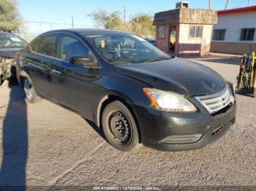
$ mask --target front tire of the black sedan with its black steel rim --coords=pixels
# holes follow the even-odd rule
[[[128,152],[139,145],[138,127],[131,112],[120,101],[113,101],[102,113],[102,130],[108,143]]]

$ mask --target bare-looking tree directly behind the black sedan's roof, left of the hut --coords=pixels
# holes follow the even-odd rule
[[[103,28],[118,29],[122,20],[119,12],[106,12],[105,9],[98,9],[91,12],[89,16],[97,23],[98,26]]]

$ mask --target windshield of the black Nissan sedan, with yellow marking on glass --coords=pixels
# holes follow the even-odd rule
[[[139,36],[129,34],[84,34],[83,36],[110,63],[143,63],[171,58]]]

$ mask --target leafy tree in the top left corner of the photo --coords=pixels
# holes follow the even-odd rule
[[[0,0],[0,31],[17,31],[22,26],[17,4],[13,0]]]

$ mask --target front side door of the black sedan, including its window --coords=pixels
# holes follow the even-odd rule
[[[64,106],[93,119],[94,81],[99,78],[94,69],[69,62],[76,56],[89,57],[89,48],[76,36],[60,34],[57,58],[51,72],[53,97]],[[94,71],[94,72],[92,72]]]

